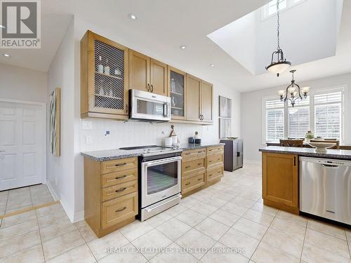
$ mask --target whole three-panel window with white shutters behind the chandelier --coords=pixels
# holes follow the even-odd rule
[[[294,107],[274,97],[263,100],[263,143],[279,139],[304,138],[311,130],[314,136],[343,142],[344,88],[312,90]]]

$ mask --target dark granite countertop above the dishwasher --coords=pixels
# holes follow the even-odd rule
[[[326,152],[316,152],[314,148],[266,146],[260,148],[260,151],[275,154],[297,154],[299,156],[351,160],[351,151],[340,149],[326,149]]]

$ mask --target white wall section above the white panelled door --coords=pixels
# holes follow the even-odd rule
[[[11,58],[8,58],[11,60]],[[46,102],[47,74],[0,63],[0,97]]]

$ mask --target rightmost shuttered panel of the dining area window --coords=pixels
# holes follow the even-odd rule
[[[341,139],[343,93],[314,95],[314,135]]]

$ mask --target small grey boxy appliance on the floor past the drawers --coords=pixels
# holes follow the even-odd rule
[[[224,146],[224,170],[232,172],[243,167],[243,140],[227,140],[220,142],[225,143]]]

